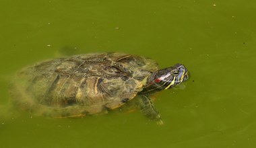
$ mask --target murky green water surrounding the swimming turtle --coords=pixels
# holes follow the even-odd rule
[[[0,9],[1,147],[256,146],[256,1],[1,0]],[[15,71],[63,48],[183,63],[191,79],[158,94],[162,126],[139,111],[77,119],[6,111]]]

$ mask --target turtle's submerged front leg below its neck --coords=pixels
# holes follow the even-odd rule
[[[145,94],[139,95],[139,98],[137,99],[137,106],[139,106],[142,114],[150,120],[155,120],[157,124],[163,123],[160,114],[151,102],[150,96]]]

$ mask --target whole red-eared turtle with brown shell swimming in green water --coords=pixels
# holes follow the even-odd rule
[[[33,114],[71,118],[109,112],[134,98],[133,106],[162,124],[152,94],[188,78],[180,63],[158,69],[156,61],[134,54],[78,54],[22,69],[13,81],[13,102]]]

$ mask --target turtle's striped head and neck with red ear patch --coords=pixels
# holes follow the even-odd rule
[[[186,67],[180,63],[173,67],[160,69],[148,77],[146,86],[142,92],[160,91],[169,89],[189,79]]]

